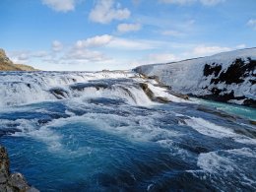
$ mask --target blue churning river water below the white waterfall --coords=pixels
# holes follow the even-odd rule
[[[12,171],[41,191],[253,191],[255,140],[225,137],[218,126],[252,127],[198,107],[106,98],[11,107],[0,113],[1,130],[20,131],[2,135],[1,144]],[[211,134],[200,131],[202,119]]]

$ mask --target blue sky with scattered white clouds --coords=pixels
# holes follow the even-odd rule
[[[256,46],[255,0],[1,0],[0,47],[42,70],[131,69]]]

